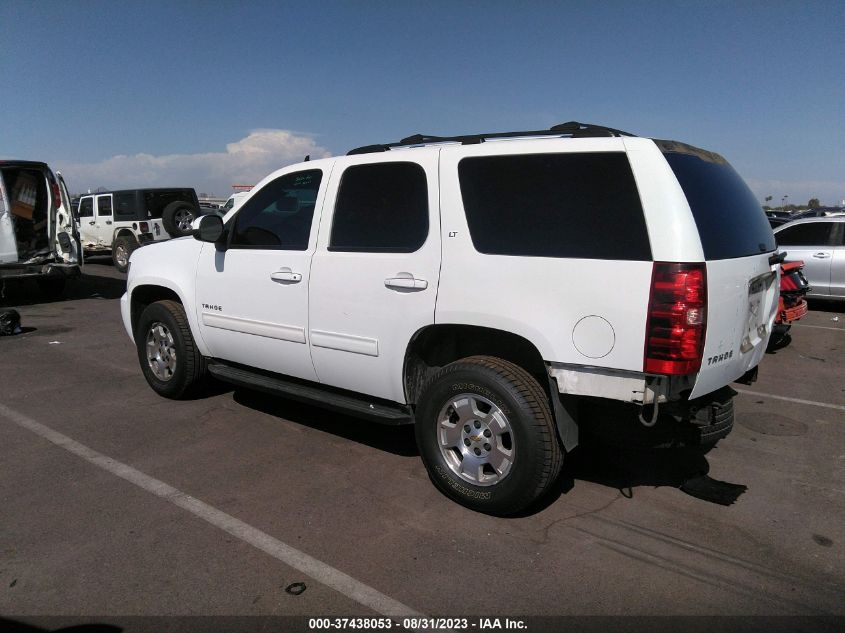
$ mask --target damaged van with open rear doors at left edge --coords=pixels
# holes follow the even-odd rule
[[[0,283],[33,278],[49,296],[80,274],[82,246],[62,175],[46,163],[0,160]]]

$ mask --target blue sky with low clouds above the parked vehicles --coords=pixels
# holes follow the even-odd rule
[[[415,132],[569,120],[845,199],[845,2],[0,0],[0,156],[228,195]]]

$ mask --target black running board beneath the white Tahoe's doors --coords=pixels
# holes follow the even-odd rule
[[[232,367],[220,362],[208,365],[209,373],[223,382],[238,387],[256,389],[276,396],[283,396],[291,400],[306,402],[324,409],[339,411],[347,415],[366,418],[380,424],[413,424],[414,418],[408,407],[384,402],[374,402],[364,398],[338,393],[325,387],[311,386],[286,380],[285,378],[268,376],[256,371]]]

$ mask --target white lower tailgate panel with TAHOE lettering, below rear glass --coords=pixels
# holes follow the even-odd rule
[[[733,382],[762,360],[777,314],[778,271],[768,254],[707,262],[707,334],[691,398]]]

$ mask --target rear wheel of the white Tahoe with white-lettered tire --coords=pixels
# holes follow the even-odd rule
[[[437,372],[420,395],[416,437],[435,486],[489,514],[525,509],[563,463],[543,388],[518,365],[491,356]]]

